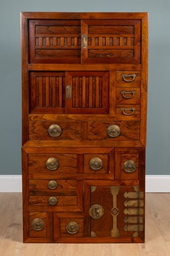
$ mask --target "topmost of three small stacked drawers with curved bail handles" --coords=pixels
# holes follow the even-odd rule
[[[141,81],[141,71],[117,71],[116,81],[125,83]]]

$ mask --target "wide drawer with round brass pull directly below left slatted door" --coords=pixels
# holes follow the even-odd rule
[[[81,122],[29,121],[29,140],[81,140]]]

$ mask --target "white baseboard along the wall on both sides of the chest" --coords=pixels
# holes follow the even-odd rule
[[[22,176],[0,175],[0,192],[22,192]],[[170,175],[146,175],[146,193],[170,193]]]

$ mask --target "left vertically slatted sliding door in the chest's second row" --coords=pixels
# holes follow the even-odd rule
[[[30,112],[65,111],[65,72],[31,72]]]

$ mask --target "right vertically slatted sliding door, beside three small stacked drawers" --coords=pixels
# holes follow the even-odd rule
[[[67,72],[66,84],[72,88],[66,100],[67,113],[108,113],[108,72]]]

